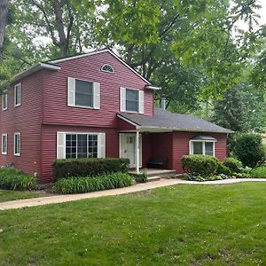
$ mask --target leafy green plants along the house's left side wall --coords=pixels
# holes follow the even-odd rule
[[[15,168],[0,168],[0,188],[8,190],[30,190],[35,187],[35,176],[27,175]]]

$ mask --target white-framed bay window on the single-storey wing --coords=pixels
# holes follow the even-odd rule
[[[190,140],[190,154],[203,154],[215,156],[214,137],[197,136]]]

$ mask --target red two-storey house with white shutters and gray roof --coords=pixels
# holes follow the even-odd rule
[[[153,104],[159,90],[110,50],[56,59],[17,74],[2,97],[0,165],[53,179],[57,158],[121,157],[182,172],[189,153],[226,156],[231,131]]]

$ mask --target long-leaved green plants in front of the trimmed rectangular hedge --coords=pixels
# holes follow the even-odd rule
[[[135,184],[134,179],[125,173],[113,173],[95,177],[62,178],[54,184],[53,191],[63,194],[97,192],[121,188]]]

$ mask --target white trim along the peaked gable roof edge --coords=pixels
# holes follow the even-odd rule
[[[95,54],[103,53],[103,52],[106,52],[106,51],[109,52],[111,55],[113,55],[113,57],[115,59],[118,59],[124,66],[127,66],[129,68],[129,70],[131,70],[133,73],[137,74],[143,81],[145,81],[147,84],[151,85],[151,82],[146,80],[145,77],[143,77],[141,74],[137,73],[137,71],[133,67],[129,66],[128,63],[126,63],[124,60],[122,60],[119,56],[117,56],[110,49],[103,49],[103,50],[98,50],[98,51],[90,51],[90,52],[87,52],[87,53],[84,53],[84,54],[76,55],[76,56],[65,58],[65,59],[51,60],[51,61],[49,61],[49,63],[56,64],[56,63],[64,62],[64,61],[67,61],[67,60],[80,59],[80,58],[89,57],[89,56],[92,56],[92,55],[95,55]]]

